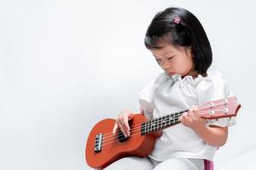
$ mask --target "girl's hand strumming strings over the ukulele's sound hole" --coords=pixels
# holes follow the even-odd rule
[[[113,133],[117,133],[119,129],[125,137],[130,136],[130,126],[128,122],[133,118],[133,116],[134,115],[129,110],[121,111],[113,126]]]

